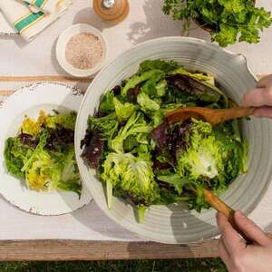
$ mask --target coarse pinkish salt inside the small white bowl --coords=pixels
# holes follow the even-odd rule
[[[102,41],[90,33],[75,34],[65,49],[67,62],[81,70],[92,69],[102,61],[102,55]]]

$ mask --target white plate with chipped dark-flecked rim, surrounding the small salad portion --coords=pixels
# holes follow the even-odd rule
[[[83,184],[81,199],[74,192],[36,192],[25,188],[5,170],[5,140],[15,136],[24,115],[36,118],[41,110],[78,111],[83,95],[77,89],[57,83],[36,83],[11,95],[0,107],[0,193],[20,209],[40,215],[60,215],[79,209],[90,202],[91,195]]]

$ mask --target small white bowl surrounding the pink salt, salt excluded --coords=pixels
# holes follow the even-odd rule
[[[78,69],[73,67],[72,64],[68,63],[65,57],[66,45],[69,40],[75,35],[80,33],[90,33],[97,36],[102,42],[102,60],[100,63],[97,63],[91,69]],[[72,74],[76,77],[88,77],[94,73],[97,73],[102,69],[103,64],[107,58],[107,43],[106,40],[98,29],[94,28],[90,24],[73,24],[71,27],[65,29],[63,33],[59,36],[56,44],[56,58],[60,65],[63,67],[63,70],[67,73]]]

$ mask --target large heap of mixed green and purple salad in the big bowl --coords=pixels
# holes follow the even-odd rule
[[[247,142],[238,121],[216,127],[190,118],[170,124],[180,107],[228,108],[228,97],[206,73],[180,63],[147,60],[139,71],[106,92],[82,141],[83,159],[105,187],[108,207],[119,197],[138,209],[186,201],[209,208],[202,189],[220,194],[247,171]]]

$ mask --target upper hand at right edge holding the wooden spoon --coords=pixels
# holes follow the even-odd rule
[[[247,92],[243,98],[244,107],[256,107],[254,115],[272,118],[272,74],[262,78],[256,89]]]

